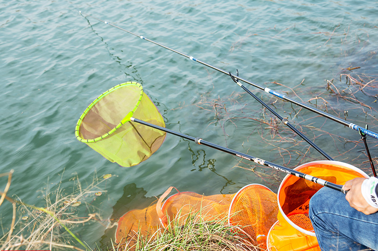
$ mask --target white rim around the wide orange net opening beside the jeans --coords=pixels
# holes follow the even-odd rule
[[[307,162],[305,164],[302,164],[302,165],[299,165],[297,166],[296,168],[294,168],[294,170],[298,170],[298,169],[301,169],[304,165],[308,165],[308,164],[311,164],[311,163],[316,163],[316,164],[334,164],[334,165],[339,165],[339,166],[343,166],[343,167],[347,167],[347,168],[350,168],[352,169],[353,171],[356,171],[357,173],[360,173],[362,175],[364,175],[365,177],[369,177],[365,172],[363,172],[362,170],[360,170],[359,168],[355,167],[355,166],[352,166],[351,164],[348,164],[348,163],[344,163],[344,162],[341,162],[341,161],[336,161],[336,160],[318,160],[318,161],[310,161],[310,162]],[[281,181],[281,184],[278,188],[278,192],[277,192],[277,203],[278,203],[278,210],[280,211],[282,217],[284,217],[284,219],[290,224],[290,226],[292,226],[293,228],[295,228],[296,230],[300,231],[300,232],[303,232],[307,235],[310,235],[310,236],[316,236],[315,235],[315,232],[310,232],[308,230],[305,230],[301,227],[299,227],[297,224],[295,224],[294,222],[292,222],[288,216],[284,213],[284,211],[282,210],[282,207],[281,207],[281,204],[280,204],[280,192],[281,192],[281,189],[282,189],[282,186],[284,184],[284,182],[290,177],[292,176],[291,174],[286,174],[286,176],[283,178],[283,180]]]

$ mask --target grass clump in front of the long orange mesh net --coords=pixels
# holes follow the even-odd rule
[[[140,232],[128,245],[113,245],[113,251],[260,251],[246,241],[238,227],[229,226],[227,218],[206,221],[199,214],[176,217],[167,229],[149,236]]]

